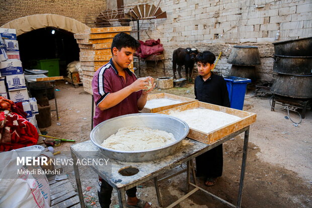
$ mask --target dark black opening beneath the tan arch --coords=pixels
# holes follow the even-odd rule
[[[23,67],[38,68],[38,61],[57,59],[59,75],[66,76],[66,65],[79,60],[79,47],[73,33],[54,27],[45,27],[17,37]]]

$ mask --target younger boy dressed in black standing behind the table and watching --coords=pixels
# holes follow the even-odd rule
[[[199,76],[195,79],[195,99],[230,107],[225,80],[211,72],[215,55],[210,51],[203,51],[196,56]],[[196,157],[196,176],[206,177],[205,185],[212,186],[222,175],[223,169],[222,144]]]

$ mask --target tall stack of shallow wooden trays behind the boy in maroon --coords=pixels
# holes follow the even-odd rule
[[[90,28],[83,34],[75,34],[79,48],[80,61],[84,74],[84,90],[92,93],[92,78],[94,73],[112,57],[111,45],[113,37],[118,33],[124,32],[130,34],[131,27],[105,27]],[[133,63],[129,65],[133,70]]]

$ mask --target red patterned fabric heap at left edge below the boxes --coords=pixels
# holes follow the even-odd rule
[[[19,113],[23,115],[19,115]],[[26,120],[24,111],[12,101],[0,96],[0,151],[10,151],[36,145],[36,127]]]

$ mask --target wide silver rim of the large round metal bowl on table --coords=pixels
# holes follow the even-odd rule
[[[181,121],[184,126],[187,128],[186,132],[184,133],[184,135],[182,136],[182,140],[187,136],[187,134],[189,133],[190,131],[190,128],[189,128],[189,125],[184,121],[184,120],[181,120],[177,117],[174,117],[174,116],[170,116],[170,115],[166,115],[166,114],[156,114],[156,113],[132,113],[132,114],[127,114],[127,115],[121,115],[121,116],[117,116],[117,117],[114,117],[114,118],[110,118],[110,119],[107,119],[101,123],[104,123],[104,122],[108,122],[108,121],[111,121],[111,120],[115,120],[115,119],[120,119],[122,117],[129,117],[129,116],[144,116],[144,115],[149,115],[149,116],[165,116],[165,117],[170,117],[170,118],[173,118],[175,120],[179,120]],[[167,147],[170,147],[170,146],[173,146],[179,142],[181,142],[182,140],[177,140],[176,142],[173,142],[169,145],[166,145],[166,146],[162,146],[162,147],[159,147],[159,148],[153,148],[153,149],[148,149],[148,150],[138,150],[138,151],[122,151],[122,150],[113,150],[113,149],[108,149],[108,148],[104,148],[102,147],[101,145],[98,145],[94,140],[93,140],[93,135],[94,132],[99,128],[99,125],[101,124],[99,123],[96,127],[94,127],[92,129],[92,131],[90,132],[90,139],[91,139],[91,142],[97,146],[98,148],[100,149],[103,149],[103,150],[107,150],[107,151],[111,151],[111,152],[115,152],[115,153],[144,153],[144,152],[152,152],[152,151],[157,151],[157,150],[161,150],[161,149],[165,149]]]

